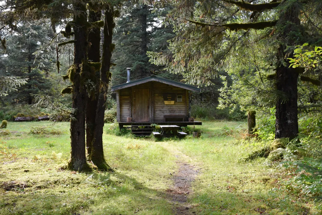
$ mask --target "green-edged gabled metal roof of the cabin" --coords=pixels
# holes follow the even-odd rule
[[[128,87],[131,87],[131,86],[135,86],[135,85],[138,85],[138,84],[141,84],[141,83],[147,83],[147,82],[150,82],[150,81],[166,83],[166,84],[176,86],[176,87],[180,87],[180,88],[184,88],[184,89],[187,89],[187,90],[200,92],[200,89],[198,87],[195,87],[195,86],[192,86],[192,85],[189,85],[189,84],[185,84],[185,83],[171,81],[171,80],[168,80],[168,79],[165,79],[165,78],[156,77],[155,75],[152,75],[152,76],[146,77],[146,78],[142,78],[142,79],[138,79],[138,80],[135,80],[135,81],[131,81],[131,82],[128,82],[128,83],[122,83],[122,84],[112,86],[112,91],[128,88]]]

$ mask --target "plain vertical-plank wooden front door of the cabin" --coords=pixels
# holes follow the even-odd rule
[[[149,89],[133,90],[133,118],[134,122],[149,122]]]

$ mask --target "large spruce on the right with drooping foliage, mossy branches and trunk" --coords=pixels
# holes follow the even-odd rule
[[[176,37],[172,55],[150,53],[156,64],[183,74],[190,83],[208,83],[218,70],[230,70],[245,58],[243,71],[271,74],[276,91],[276,138],[298,134],[298,76],[289,68],[294,46],[321,41],[321,2],[314,1],[176,1],[169,19]],[[234,56],[234,55],[237,55]],[[250,57],[255,56],[255,57]],[[257,99],[257,98],[254,98]]]

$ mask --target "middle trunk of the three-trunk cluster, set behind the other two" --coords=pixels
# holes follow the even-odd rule
[[[97,22],[101,19],[101,12],[98,11],[89,11],[89,22]],[[90,47],[88,49],[88,60],[91,62],[99,62],[100,60],[100,28],[92,28],[88,35],[88,42]],[[96,77],[100,79],[99,70],[96,71]],[[99,82],[98,82],[99,85]],[[87,155],[90,155],[91,145],[94,138],[95,130],[95,116],[96,116],[96,107],[98,102],[98,87],[95,92],[95,95],[87,97],[86,103],[86,148]]]

